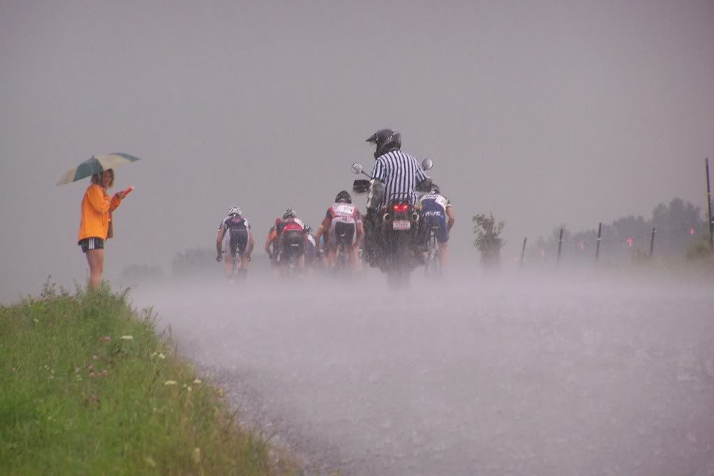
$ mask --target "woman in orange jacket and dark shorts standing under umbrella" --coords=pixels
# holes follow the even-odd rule
[[[114,169],[107,169],[91,176],[91,185],[82,198],[79,241],[77,244],[87,256],[89,263],[89,287],[99,288],[104,271],[104,240],[109,234],[111,212],[116,210],[126,196],[126,191],[117,192],[110,199],[106,193],[114,186]]]

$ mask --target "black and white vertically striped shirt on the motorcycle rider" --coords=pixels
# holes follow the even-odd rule
[[[402,151],[391,151],[379,156],[372,177],[384,184],[381,205],[392,198],[410,198],[411,203],[418,203],[416,185],[426,179],[424,169],[416,158]]]

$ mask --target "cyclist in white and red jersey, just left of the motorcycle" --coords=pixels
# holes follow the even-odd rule
[[[327,260],[331,268],[335,266],[339,240],[344,237],[350,263],[355,270],[359,269],[357,250],[364,238],[364,227],[362,214],[356,206],[352,205],[352,197],[347,191],[343,190],[338,193],[335,203],[327,209],[316,238],[319,240],[321,236],[326,237]]]

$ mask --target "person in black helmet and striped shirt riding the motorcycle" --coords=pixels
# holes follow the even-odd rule
[[[408,153],[401,151],[401,134],[393,129],[380,129],[369,136],[366,142],[375,145],[374,168],[372,178],[384,187],[384,193],[378,205],[368,203],[365,217],[365,248],[367,260],[372,266],[378,265],[379,250],[383,249],[380,229],[380,215],[377,211],[392,198],[408,198],[412,206],[417,206],[417,190],[430,191],[431,179],[426,176],[421,164]],[[373,186],[374,188],[374,186]],[[415,254],[422,255],[415,249]]]

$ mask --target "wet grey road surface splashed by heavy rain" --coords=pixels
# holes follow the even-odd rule
[[[307,474],[714,474],[713,288],[592,279],[133,295]]]

